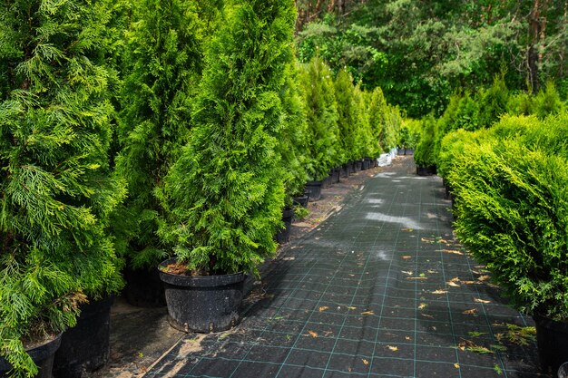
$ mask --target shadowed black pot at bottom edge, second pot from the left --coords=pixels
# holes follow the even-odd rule
[[[54,378],[81,378],[102,368],[111,354],[111,306],[107,296],[81,307],[77,325],[64,332],[54,359]]]

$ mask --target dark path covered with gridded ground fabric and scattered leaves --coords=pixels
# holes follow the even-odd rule
[[[144,376],[543,376],[534,342],[507,337],[531,320],[455,242],[441,179],[415,172],[397,158],[368,179],[281,249],[236,329],[188,334]]]

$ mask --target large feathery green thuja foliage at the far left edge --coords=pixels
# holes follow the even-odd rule
[[[0,5],[0,355],[37,367],[24,342],[74,325],[78,305],[122,287],[108,216],[113,107],[96,1]]]

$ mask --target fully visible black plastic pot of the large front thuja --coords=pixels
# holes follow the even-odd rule
[[[175,263],[171,258],[160,264]],[[183,332],[226,331],[239,324],[245,275],[182,276],[163,272],[168,321]]]

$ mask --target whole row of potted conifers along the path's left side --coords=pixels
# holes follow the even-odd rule
[[[400,114],[380,89],[295,63],[293,1],[224,3],[0,5],[3,376],[51,376],[35,346],[53,352],[87,304],[157,267],[170,302],[229,293],[172,310],[172,325],[235,325],[282,209],[308,180],[393,147]],[[108,342],[101,354],[56,358],[55,373],[99,367]]]

